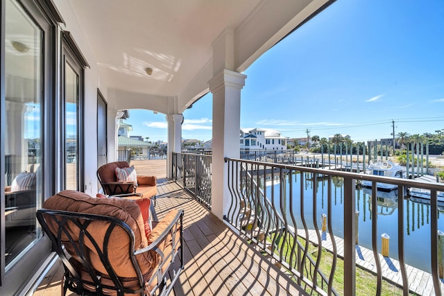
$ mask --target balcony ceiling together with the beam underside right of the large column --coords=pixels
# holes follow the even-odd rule
[[[213,44],[225,29],[234,32],[231,70],[241,72],[325,2],[69,0],[69,5],[109,89],[182,98],[184,109],[207,91]]]

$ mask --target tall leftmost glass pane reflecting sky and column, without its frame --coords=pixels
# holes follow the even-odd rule
[[[40,238],[42,200],[42,34],[15,1],[6,1],[5,231],[6,269]],[[3,231],[3,227],[2,227]]]

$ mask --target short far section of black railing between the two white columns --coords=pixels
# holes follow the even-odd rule
[[[191,153],[173,153],[173,180],[211,209],[212,157]]]

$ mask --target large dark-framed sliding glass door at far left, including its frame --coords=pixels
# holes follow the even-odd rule
[[[16,295],[51,253],[35,211],[56,184],[56,21],[32,0],[1,8],[0,295]]]

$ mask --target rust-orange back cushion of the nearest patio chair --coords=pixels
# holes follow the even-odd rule
[[[46,200],[43,204],[45,209],[55,209],[61,211],[73,211],[77,213],[98,214],[104,216],[111,216],[122,220],[126,223],[135,234],[135,250],[148,245],[146,233],[144,228],[144,218],[139,206],[130,199],[125,198],[92,198],[91,196],[78,191],[61,191],[51,198]],[[57,226],[51,220],[48,220],[48,225],[51,232],[56,232]],[[94,234],[96,241],[103,242],[105,237],[105,221],[94,221],[88,226],[89,232]],[[78,240],[78,228],[74,225],[67,225],[70,229],[71,235]],[[62,240],[66,241],[67,237],[62,235]],[[117,270],[119,277],[136,277],[136,272],[129,258],[129,237],[126,232],[120,227],[114,229],[110,236],[110,243],[108,244],[110,261],[113,267]],[[89,241],[85,241],[90,250],[89,257],[94,265],[94,268],[103,274],[106,273],[103,267],[99,254],[96,253],[94,247]],[[74,256],[75,252],[73,246],[65,244],[67,251]],[[156,265],[155,254],[151,252],[144,252],[136,256],[137,261],[142,269],[142,274],[152,272],[152,268]]]

